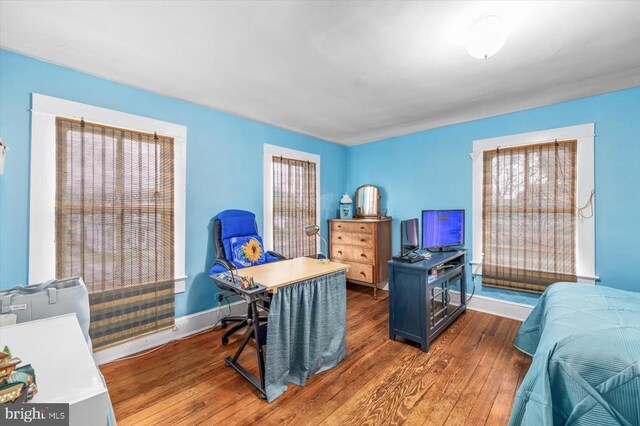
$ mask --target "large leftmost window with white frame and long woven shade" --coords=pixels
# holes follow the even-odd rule
[[[30,282],[83,278],[94,350],[172,327],[184,279],[184,133],[142,117],[142,128],[178,134],[101,124],[136,116],[35,94],[33,114]]]

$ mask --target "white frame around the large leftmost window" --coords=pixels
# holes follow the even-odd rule
[[[185,203],[187,128],[93,105],[32,94],[31,184],[29,207],[29,283],[55,277],[56,117],[84,120],[174,138],[174,276],[175,292],[185,291]]]

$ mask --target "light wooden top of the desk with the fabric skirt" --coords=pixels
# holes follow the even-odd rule
[[[348,268],[349,266],[342,263],[321,263],[309,257],[297,257],[242,268],[238,270],[237,275],[253,277],[256,283],[267,287],[270,293],[275,293],[280,287],[338,271],[346,271]]]

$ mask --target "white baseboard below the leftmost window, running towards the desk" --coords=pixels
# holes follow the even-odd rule
[[[231,313],[229,314],[229,310]],[[187,337],[206,330],[215,324],[217,319],[227,315],[245,315],[247,313],[247,304],[244,301],[231,303],[228,307],[225,303],[206,311],[197,312],[191,315],[176,318],[176,325],[169,330],[159,331],[149,334],[139,339],[130,340],[121,345],[113,346],[93,354],[93,359],[98,365],[106,364],[120,358],[124,358],[135,353],[155,348],[172,340]]]

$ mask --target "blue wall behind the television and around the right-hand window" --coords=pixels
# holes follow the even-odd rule
[[[473,140],[595,123],[596,273],[600,284],[640,291],[640,88],[471,121],[349,149],[347,188],[382,188],[383,207],[399,220],[422,209],[467,211],[471,247]],[[534,303],[537,296],[481,289],[479,294]]]

